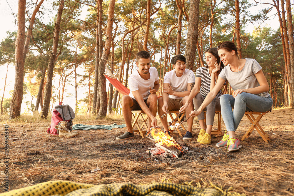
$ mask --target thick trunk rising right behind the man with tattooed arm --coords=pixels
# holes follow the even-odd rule
[[[193,70],[196,43],[198,39],[198,19],[199,19],[199,0],[190,1],[189,24],[186,41],[186,65],[187,68]]]

